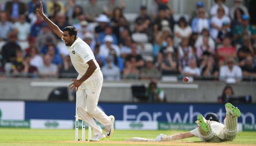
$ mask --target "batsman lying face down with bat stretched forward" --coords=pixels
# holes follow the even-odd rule
[[[238,133],[237,118],[241,116],[241,112],[231,103],[225,104],[226,118],[224,124],[219,123],[217,114],[198,115],[196,124],[197,128],[185,133],[174,134],[167,137],[165,134],[159,134],[155,139],[134,137],[127,141],[172,141],[190,137],[198,137],[203,142],[224,142],[233,141]]]

